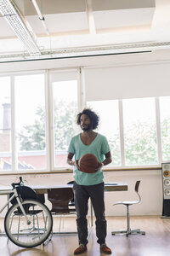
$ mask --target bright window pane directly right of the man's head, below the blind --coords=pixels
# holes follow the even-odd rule
[[[87,102],[87,106],[99,113],[97,131],[107,137],[111,147],[111,166],[121,165],[118,101]]]

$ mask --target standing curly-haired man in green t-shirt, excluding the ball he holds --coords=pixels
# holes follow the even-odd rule
[[[67,163],[74,166],[73,177],[75,179],[74,190],[79,247],[74,251],[74,254],[87,251],[89,198],[94,207],[96,236],[98,237],[97,242],[100,245],[100,252],[110,254],[111,249],[105,244],[106,220],[102,167],[111,163],[111,149],[105,136],[94,132],[99,125],[99,116],[94,111],[85,108],[81,113],[78,113],[77,125],[80,125],[82,132],[71,138],[67,158]],[[83,154],[94,154],[97,157],[99,169],[96,172],[81,172],[78,160]],[[74,155],[75,160],[72,160]]]

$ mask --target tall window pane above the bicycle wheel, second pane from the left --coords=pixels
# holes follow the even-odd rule
[[[46,168],[44,75],[15,77],[18,170]]]

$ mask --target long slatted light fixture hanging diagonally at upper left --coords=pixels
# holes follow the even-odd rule
[[[10,0],[0,0],[0,13],[7,20],[9,26],[12,27],[17,37],[26,46],[29,54],[41,55],[41,51],[35,40],[31,37],[31,33],[28,31],[25,22]]]

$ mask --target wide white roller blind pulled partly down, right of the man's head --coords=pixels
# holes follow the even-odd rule
[[[85,68],[86,100],[170,96],[170,63]]]

